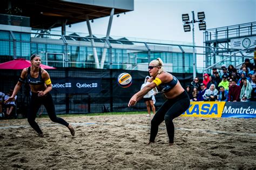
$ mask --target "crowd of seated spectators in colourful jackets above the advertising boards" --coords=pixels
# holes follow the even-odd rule
[[[256,101],[256,58],[254,64],[246,58],[240,69],[233,65],[221,65],[205,73],[200,81],[194,78],[186,86],[191,101]]]

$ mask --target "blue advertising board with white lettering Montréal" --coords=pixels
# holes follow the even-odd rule
[[[256,118],[256,102],[226,102],[224,118]]]

